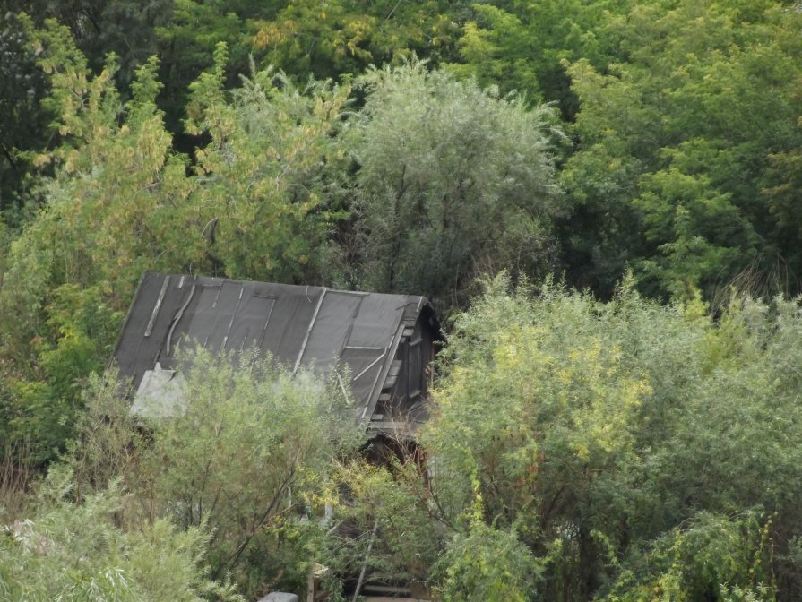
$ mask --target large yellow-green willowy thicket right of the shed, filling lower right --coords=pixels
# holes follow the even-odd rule
[[[796,304],[735,299],[713,323],[631,280],[608,304],[535,291],[496,280],[444,349],[422,442],[456,541],[479,520],[525,546],[532,597],[793,598]]]

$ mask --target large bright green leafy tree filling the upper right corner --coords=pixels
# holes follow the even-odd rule
[[[798,18],[770,1],[638,3],[599,30],[615,59],[566,63],[582,103],[562,173],[575,281],[608,294],[628,263],[651,295],[798,289],[793,229],[766,192],[780,179],[787,194],[772,158],[799,144]]]

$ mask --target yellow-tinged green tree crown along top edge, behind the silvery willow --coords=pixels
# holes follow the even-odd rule
[[[180,131],[186,88],[209,69],[220,42],[229,48],[227,88],[252,72],[273,65],[297,84],[309,78],[338,81],[398,56],[450,56],[459,27],[452,14],[462,3],[358,2],[199,2],[177,0],[167,20],[156,28],[167,88],[162,104],[168,127]],[[197,139],[177,138],[181,150]]]

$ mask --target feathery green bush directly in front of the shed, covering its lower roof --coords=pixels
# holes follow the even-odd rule
[[[120,520],[138,529],[168,520],[209,529],[211,578],[248,597],[303,593],[328,529],[316,516],[332,500],[335,460],[362,442],[352,400],[337,378],[275,366],[252,353],[181,361],[185,413],[133,417],[115,374],[91,379],[82,437],[67,461],[81,495],[121,478]]]

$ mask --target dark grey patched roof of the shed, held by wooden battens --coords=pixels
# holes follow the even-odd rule
[[[436,330],[424,297],[145,272],[114,357],[134,391],[157,362],[174,367],[181,340],[214,352],[257,348],[293,371],[347,364],[364,418],[374,412],[404,329],[422,314]]]

